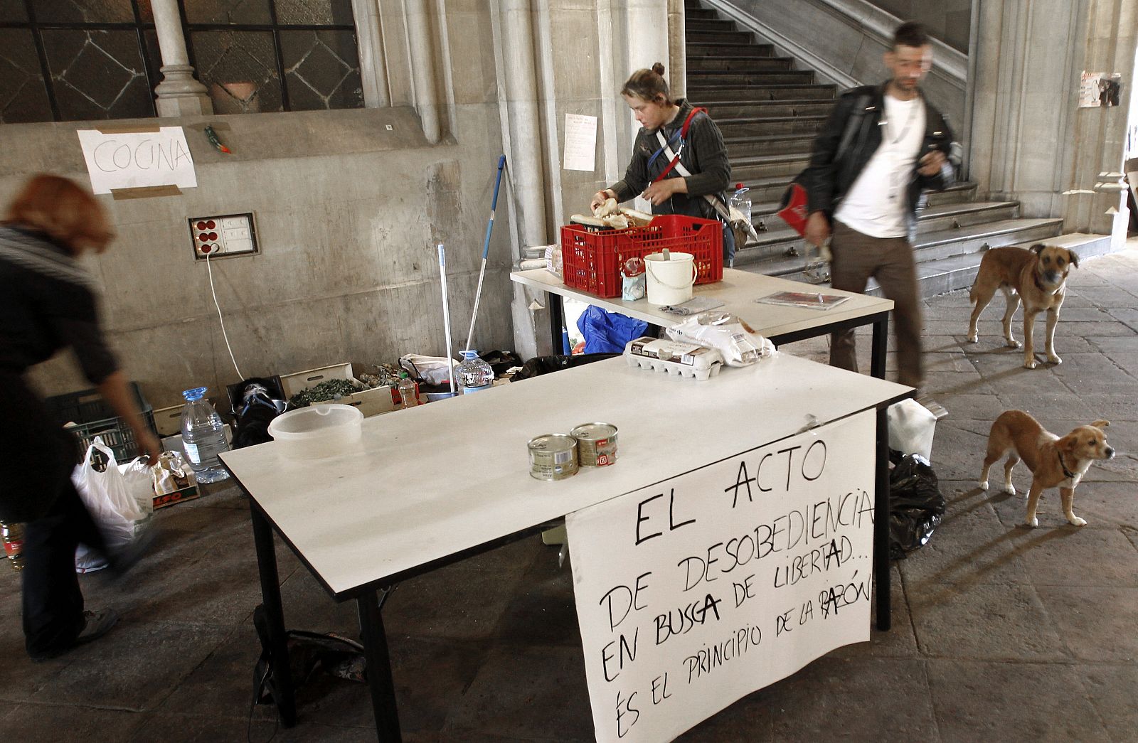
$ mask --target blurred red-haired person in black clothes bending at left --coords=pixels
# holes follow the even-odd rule
[[[74,352],[83,373],[157,461],[158,439],[142,422],[126,378],[107,348],[94,280],[80,264],[114,237],[99,203],[74,181],[32,178],[0,222],[0,520],[24,523],[24,645],[33,660],[60,655],[106,634],[110,609],[84,611],[75,547],[104,553],[121,571],[134,558],[108,552],[71,473],[75,437],[56,421],[24,374],[57,352]]]

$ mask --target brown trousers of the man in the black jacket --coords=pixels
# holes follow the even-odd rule
[[[897,381],[921,387],[924,381],[921,296],[913,246],[907,238],[873,238],[835,222],[830,249],[833,253],[830,279],[834,289],[861,294],[873,276],[881,284],[882,294],[893,300]],[[853,330],[831,333],[830,365],[857,371]]]

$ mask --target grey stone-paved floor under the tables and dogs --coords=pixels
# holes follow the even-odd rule
[[[970,345],[966,294],[927,302],[929,387],[949,411],[932,459],[949,505],[932,542],[893,567],[893,629],[681,740],[1138,740],[1138,245],[1072,272],[1062,365],[1022,369],[993,304]],[[819,341],[787,348],[825,355]],[[1075,498],[1088,526],[1067,526],[1052,490],[1039,528],[1025,529],[1019,496],[975,487],[989,424],[1011,407],[1059,434],[1112,421],[1119,455],[1091,468]],[[1021,467],[1016,486],[1028,482]],[[270,708],[250,711],[259,592],[242,496],[215,488],[156,521],[152,552],[126,579],[82,578],[89,605],[115,606],[118,627],[53,661],[25,657],[18,576],[0,564],[3,737],[373,741],[366,688],[346,682],[305,688],[291,729],[277,729]],[[592,740],[556,553],[530,538],[395,591],[384,612],[405,740]],[[354,604],[332,603],[287,548],[280,560],[288,625],[352,633]]]

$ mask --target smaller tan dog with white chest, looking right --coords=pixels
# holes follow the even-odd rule
[[[1031,489],[1028,492],[1028,517],[1025,523],[1039,526],[1036,506],[1039,495],[1046,489],[1059,486],[1063,497],[1063,514],[1077,527],[1087,523],[1074,514],[1074,488],[1087,473],[1095,460],[1108,460],[1114,449],[1106,445],[1103,429],[1110,421],[1095,421],[1080,426],[1063,438],[1044,430],[1039,421],[1023,411],[1006,411],[992,423],[988,435],[988,454],[980,472],[980,487],[988,489],[988,470],[999,457],[1008,454],[1004,463],[1004,489],[1015,493],[1012,485],[1012,468],[1022,459],[1031,470]]]

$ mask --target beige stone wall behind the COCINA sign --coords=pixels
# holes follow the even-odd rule
[[[446,130],[438,146],[426,143],[407,106],[162,119],[185,127],[198,187],[173,197],[99,197],[118,237],[90,259],[109,342],[151,404],[175,405],[192,386],[224,395],[239,379],[188,217],[254,213],[261,254],[212,266],[246,377],[442,354],[437,241],[447,246],[456,347],[465,340],[502,152],[490,16],[476,6],[485,3],[454,3],[431,19],[448,31],[438,34],[439,59],[456,68],[438,81]],[[386,22],[394,43],[397,18]],[[389,64],[388,79],[393,99],[405,102],[405,69]],[[211,122],[234,155],[206,142],[201,127]],[[75,131],[91,125],[0,126],[0,201],[41,171],[85,182]],[[475,336],[484,350],[513,347],[509,199],[503,183]],[[33,382],[48,395],[89,386],[69,358],[41,365]]]

